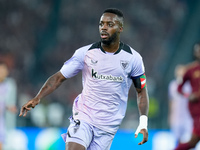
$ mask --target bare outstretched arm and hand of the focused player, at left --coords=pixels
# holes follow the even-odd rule
[[[19,116],[26,116],[27,112],[39,104],[40,99],[49,95],[54,90],[56,90],[66,78],[61,74],[60,71],[50,76],[47,81],[44,83],[38,94],[26,104],[21,107]]]

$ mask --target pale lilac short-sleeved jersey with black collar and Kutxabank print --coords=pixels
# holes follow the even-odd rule
[[[142,57],[122,42],[113,54],[105,52],[97,42],[76,50],[60,70],[66,78],[79,71],[83,90],[74,100],[74,119],[116,133],[125,116],[131,77],[144,74]]]

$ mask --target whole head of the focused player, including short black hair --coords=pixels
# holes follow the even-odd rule
[[[106,9],[99,22],[99,32],[101,42],[110,45],[112,42],[118,42],[120,33],[123,31],[124,16],[116,8]]]

